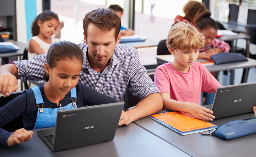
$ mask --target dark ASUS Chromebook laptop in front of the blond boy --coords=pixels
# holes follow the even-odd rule
[[[256,82],[218,87],[211,109],[215,119],[253,112],[256,104]]]

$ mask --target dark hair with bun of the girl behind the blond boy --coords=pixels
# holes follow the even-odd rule
[[[200,30],[208,29],[209,27],[213,27],[214,29],[218,30],[217,22],[210,18],[211,12],[206,11],[203,12],[196,18],[196,27]]]

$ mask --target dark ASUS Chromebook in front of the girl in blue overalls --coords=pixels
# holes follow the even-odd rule
[[[53,152],[112,141],[124,102],[57,112],[56,126],[36,131]]]

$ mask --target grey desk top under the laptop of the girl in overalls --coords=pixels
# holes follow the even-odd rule
[[[188,154],[177,149],[137,126],[130,123],[128,126],[117,128],[113,141],[83,146],[74,149],[51,152],[49,147],[39,138],[34,131],[31,141],[21,143],[14,147],[0,146],[0,156],[8,157],[132,157],[132,156],[179,156],[186,157]]]

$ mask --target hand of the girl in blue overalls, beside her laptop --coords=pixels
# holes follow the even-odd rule
[[[12,147],[16,144],[21,144],[21,142],[29,141],[33,134],[33,131],[27,131],[24,128],[18,129],[7,139],[7,145]]]

